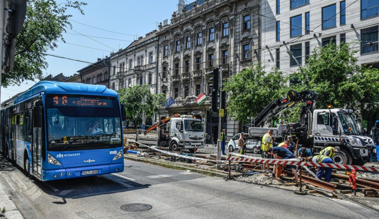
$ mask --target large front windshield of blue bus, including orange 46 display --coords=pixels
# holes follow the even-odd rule
[[[111,98],[47,96],[47,149],[88,150],[122,146],[118,102]]]

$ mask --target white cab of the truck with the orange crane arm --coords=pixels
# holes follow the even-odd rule
[[[179,148],[193,150],[204,147],[204,128],[200,119],[190,115],[181,115],[170,119],[170,143],[171,150]]]

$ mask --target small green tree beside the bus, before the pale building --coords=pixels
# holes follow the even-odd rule
[[[126,116],[129,122],[138,126],[159,113],[159,107],[165,103],[164,94],[152,94],[148,85],[135,85],[133,87],[121,88],[117,91],[120,103],[125,105]],[[144,114],[145,121],[142,121]]]

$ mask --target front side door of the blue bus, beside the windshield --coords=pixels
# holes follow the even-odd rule
[[[41,179],[41,128],[33,128],[33,140],[32,140],[32,166],[33,175],[38,179]]]

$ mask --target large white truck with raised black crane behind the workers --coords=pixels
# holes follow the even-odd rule
[[[341,150],[332,158],[338,164],[362,164],[370,158],[374,142],[360,135],[352,110],[316,110],[317,92],[291,90],[286,98],[269,103],[254,119],[249,136],[261,140],[268,129],[274,130],[273,139],[281,142],[288,135],[297,139],[299,148],[311,148],[319,153],[326,146],[340,146]],[[261,128],[265,122],[298,103],[303,103],[299,122],[279,125],[277,128]]]

